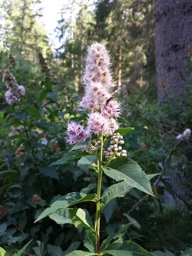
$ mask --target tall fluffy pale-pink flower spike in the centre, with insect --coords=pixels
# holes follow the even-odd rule
[[[67,142],[80,143],[91,134],[104,136],[113,135],[118,129],[115,118],[120,116],[121,107],[110,93],[112,77],[110,59],[106,47],[102,44],[92,44],[86,56],[86,68],[83,76],[84,97],[79,106],[90,111],[86,129],[74,122],[68,124]]]

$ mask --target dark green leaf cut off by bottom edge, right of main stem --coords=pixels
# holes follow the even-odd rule
[[[148,255],[154,256],[152,253],[147,252],[147,250],[143,249],[138,244],[132,241],[125,241],[124,243],[113,243],[110,244],[105,253],[109,253],[113,256],[141,256],[141,255]]]

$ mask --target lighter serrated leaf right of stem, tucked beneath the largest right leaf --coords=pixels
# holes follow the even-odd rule
[[[131,188],[132,187],[125,181],[122,181],[118,184],[114,184],[107,188],[102,194],[101,198],[102,209],[114,198],[124,197],[125,195],[127,195]]]

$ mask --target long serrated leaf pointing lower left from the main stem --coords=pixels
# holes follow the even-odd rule
[[[45,209],[40,216],[35,220],[39,221],[43,218],[49,216],[50,214],[57,212],[61,209],[65,209],[67,207],[70,207],[75,204],[79,204],[81,202],[87,202],[87,201],[95,201],[96,194],[86,195],[84,193],[78,193],[78,192],[72,192],[68,193],[65,196],[62,196],[56,202],[54,202],[49,208]]]

